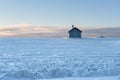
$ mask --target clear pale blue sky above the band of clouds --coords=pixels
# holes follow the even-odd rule
[[[0,0],[0,26],[120,26],[120,0]]]

